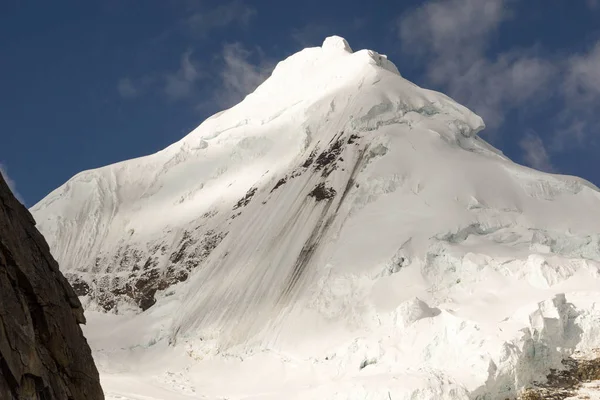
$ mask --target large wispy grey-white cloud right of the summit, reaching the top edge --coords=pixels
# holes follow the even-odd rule
[[[547,92],[553,62],[533,50],[486,50],[500,24],[511,18],[509,0],[433,0],[402,15],[398,32],[405,52],[423,60],[428,80],[473,108],[488,127],[508,109]]]

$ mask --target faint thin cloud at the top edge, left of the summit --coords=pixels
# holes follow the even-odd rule
[[[218,28],[238,24],[246,26],[256,16],[256,10],[241,0],[233,0],[213,9],[200,10],[185,20],[189,31],[198,37]]]

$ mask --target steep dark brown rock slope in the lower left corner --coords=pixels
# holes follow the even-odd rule
[[[0,175],[0,399],[104,399],[83,308]]]

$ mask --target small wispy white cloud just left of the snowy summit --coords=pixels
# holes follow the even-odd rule
[[[253,55],[256,55],[258,61],[252,61]],[[275,67],[260,50],[249,51],[240,43],[225,45],[221,60],[221,87],[217,89],[215,96],[222,107],[231,107],[253,92],[269,77]]]

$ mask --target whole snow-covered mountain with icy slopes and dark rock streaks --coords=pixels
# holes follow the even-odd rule
[[[156,399],[505,399],[600,347],[600,193],[483,128],[331,37],[31,211],[92,315],[105,389],[139,370]]]

